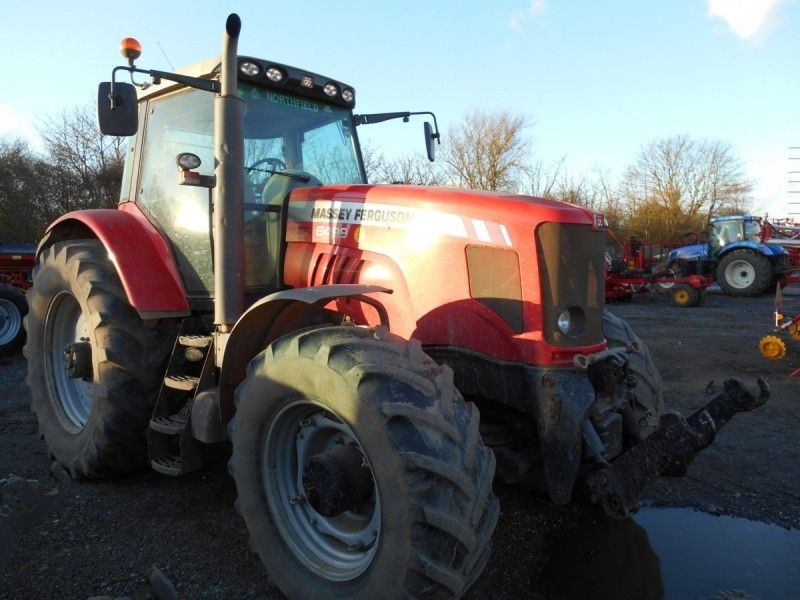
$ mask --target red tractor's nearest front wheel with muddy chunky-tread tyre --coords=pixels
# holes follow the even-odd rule
[[[250,548],[290,598],[461,595],[499,513],[478,420],[448,368],[384,329],[277,340],[230,424]]]

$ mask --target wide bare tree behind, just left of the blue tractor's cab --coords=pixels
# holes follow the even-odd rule
[[[643,146],[621,184],[630,220],[665,239],[702,227],[721,211],[746,210],[751,190],[729,144],[688,136]]]

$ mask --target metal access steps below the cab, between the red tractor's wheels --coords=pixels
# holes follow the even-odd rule
[[[192,403],[214,382],[214,338],[195,319],[185,319],[147,430],[150,465],[177,477],[199,469],[200,443],[191,432]]]

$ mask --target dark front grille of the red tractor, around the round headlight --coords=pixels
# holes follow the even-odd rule
[[[544,338],[557,346],[589,346],[603,341],[606,234],[589,225],[542,223],[536,228],[542,286]],[[565,336],[557,329],[561,311],[581,308],[583,328]]]

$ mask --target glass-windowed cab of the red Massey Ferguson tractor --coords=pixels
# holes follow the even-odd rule
[[[209,64],[184,73],[213,76]],[[187,295],[197,304],[214,292],[214,97],[167,83],[139,94],[139,127],[131,137],[122,200],[134,202],[171,240]],[[289,192],[363,183],[365,175],[350,110],[352,88],[240,57],[237,91],[245,105],[245,297],[254,299],[280,287],[281,210]]]

